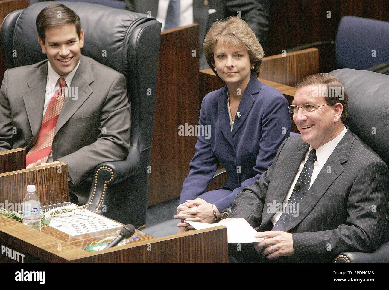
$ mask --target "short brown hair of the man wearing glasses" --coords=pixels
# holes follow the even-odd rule
[[[328,93],[324,96],[324,99],[326,100],[327,104],[335,105],[336,103],[340,103],[343,105],[343,111],[342,115],[340,116],[340,120],[344,123],[344,121],[347,118],[347,115],[349,114],[349,106],[348,106],[348,95],[344,88],[344,86],[339,82],[335,76],[331,76],[331,74],[311,74],[310,76],[306,76],[305,78],[301,79],[296,85],[294,85],[294,88],[301,88],[303,86],[312,86],[312,85],[324,85],[328,88],[331,88],[331,95]],[[344,93],[343,99],[339,95],[338,88],[341,88]]]

